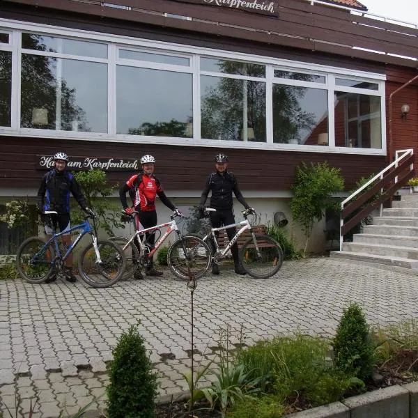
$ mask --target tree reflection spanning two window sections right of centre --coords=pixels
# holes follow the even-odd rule
[[[265,77],[264,65],[252,65],[236,61],[221,61],[219,72],[225,74]],[[278,72],[284,77],[314,82],[314,75]],[[216,84],[214,81],[217,81]],[[201,98],[201,136],[208,139],[241,140],[247,107],[247,127],[254,129],[252,141],[266,141],[265,131],[265,82],[202,76],[202,86],[209,82]],[[203,88],[202,88],[203,89]],[[273,84],[273,138],[274,142],[301,141],[301,131],[312,130],[315,115],[304,111],[303,99],[307,88]],[[302,104],[302,105],[301,105]]]

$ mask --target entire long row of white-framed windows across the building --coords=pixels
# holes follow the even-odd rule
[[[383,75],[25,27],[0,28],[0,135],[385,154]]]

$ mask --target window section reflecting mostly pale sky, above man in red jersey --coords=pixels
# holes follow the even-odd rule
[[[148,50],[118,52],[116,133],[193,137],[190,58]]]

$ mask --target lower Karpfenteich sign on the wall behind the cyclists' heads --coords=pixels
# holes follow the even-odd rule
[[[54,168],[52,155],[36,155],[37,169],[50,170]],[[95,158],[95,157],[70,157],[67,163],[68,170],[93,170],[103,171],[138,171],[141,169],[139,160],[127,160],[125,158]]]

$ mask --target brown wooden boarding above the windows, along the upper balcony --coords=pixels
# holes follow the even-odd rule
[[[132,10],[107,8],[102,6],[100,0],[91,0],[88,3],[74,0],[6,0],[6,2],[33,6],[32,13],[39,13],[39,9],[45,7],[61,10],[64,13],[73,12],[98,16],[102,19],[165,26],[181,31],[297,47],[414,68],[418,64],[417,29],[351,15],[346,10],[332,10],[318,4],[311,5],[300,1],[277,1],[279,19],[239,10],[167,0],[111,1],[121,6],[131,6]],[[164,13],[192,17],[192,20],[166,17]],[[384,54],[353,49],[353,47]],[[410,56],[415,58],[415,61],[401,56]]]

